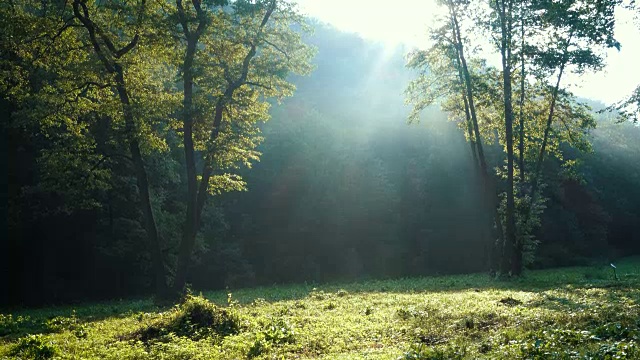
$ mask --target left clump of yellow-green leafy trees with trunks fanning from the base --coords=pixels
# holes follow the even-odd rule
[[[58,126],[58,121],[64,120],[80,128],[66,126],[59,132],[70,131],[78,141],[88,142],[87,151],[77,154],[97,158],[94,166],[82,166],[87,176],[93,176],[115,156],[131,160],[159,296],[170,295],[165,262],[171,268],[171,260],[163,254],[169,249],[160,243],[145,156],[171,151],[178,146],[172,140],[174,134],[182,132],[188,195],[173,282],[175,294],[186,281],[207,196],[244,189],[242,179],[228,170],[258,160],[255,147],[261,137],[257,122],[268,118],[269,99],[293,93],[289,74],[308,73],[312,56],[294,29],[296,24],[303,30],[306,25],[292,4],[236,1],[230,7],[220,7],[223,3],[193,1],[187,9],[176,1],[174,14],[167,13],[165,5],[146,0],[99,4],[74,0],[71,7],[34,2],[3,8],[10,19],[24,19],[23,23],[37,20],[29,31],[12,40],[34,41],[38,46],[31,52],[15,51],[16,57],[25,62],[42,57],[35,69],[28,64],[15,67],[15,59],[8,61],[7,66],[13,68],[5,78],[6,93],[12,95],[13,91],[13,98],[23,106],[26,101],[42,104],[40,109],[24,108],[35,124],[46,120]],[[39,7],[42,11],[34,11]],[[194,22],[196,29],[191,28]],[[9,30],[18,33],[21,29]],[[13,50],[17,45],[6,48]],[[184,57],[179,55],[182,50]],[[182,76],[174,82],[179,68]],[[11,83],[17,74],[29,76],[36,71],[46,71],[48,86]],[[184,89],[182,109],[176,91],[180,85]],[[52,96],[60,94],[59,98]],[[65,108],[45,115],[50,112],[45,101],[59,101]],[[167,119],[171,114],[181,115],[181,125],[177,119]],[[118,144],[116,139],[122,137],[128,144],[127,153],[101,154],[93,129],[82,124],[85,118],[106,119],[104,125],[113,138],[110,143]],[[50,153],[48,160],[60,164],[61,156],[62,151]],[[66,158],[77,163],[73,153]],[[203,164],[200,179],[195,172],[198,161]]]

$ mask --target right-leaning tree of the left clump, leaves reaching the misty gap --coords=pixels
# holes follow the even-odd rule
[[[257,131],[254,124],[268,118],[268,103],[264,99],[291,95],[294,87],[287,81],[288,74],[308,73],[312,54],[301,42],[300,34],[291,30],[294,24],[304,24],[288,3],[237,1],[229,13],[204,8],[199,1],[191,5],[187,10],[182,1],[176,1],[185,47],[181,66],[182,124],[188,185],[186,219],[173,284],[176,292],[182,291],[186,282],[207,195],[244,188],[241,178],[214,172],[234,167],[238,162],[250,166],[251,161],[258,159],[259,154],[253,148],[260,139],[254,135]],[[197,51],[198,46],[203,49]],[[214,104],[212,116],[207,113],[206,102]],[[196,141],[195,125],[199,135]],[[203,149],[199,180],[196,146]],[[234,152],[239,148],[245,150]]]

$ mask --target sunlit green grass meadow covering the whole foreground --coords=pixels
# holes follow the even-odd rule
[[[640,359],[640,258],[617,266],[16,311],[0,359]]]

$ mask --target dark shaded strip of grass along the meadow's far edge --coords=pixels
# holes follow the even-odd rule
[[[620,280],[615,280],[607,266],[575,267],[536,270],[526,272],[520,278],[497,280],[487,274],[449,275],[360,282],[335,282],[328,284],[288,284],[262,286],[250,289],[205,292],[204,295],[217,305],[228,303],[228,294],[241,305],[263,299],[267,302],[306,299],[318,294],[339,295],[364,293],[443,293],[462,291],[509,290],[544,292],[561,290],[567,293],[583,289],[629,290],[627,300],[640,303],[640,258],[629,258],[618,264]],[[562,310],[582,306],[568,298],[557,297],[541,302],[540,306]],[[69,330],[74,326],[101,321],[107,318],[123,318],[140,313],[161,312],[172,305],[159,306],[150,299],[133,301],[108,301],[78,306],[56,306],[42,309],[19,310],[11,315],[0,314],[0,342],[13,341],[27,334],[46,334]]]

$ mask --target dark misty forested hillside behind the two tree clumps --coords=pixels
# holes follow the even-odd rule
[[[464,132],[437,107],[427,108],[420,124],[405,124],[403,91],[415,73],[404,67],[404,49],[321,25],[307,41],[318,48],[316,69],[292,79],[296,95],[274,105],[261,125],[261,161],[239,173],[248,191],[217,195],[205,208],[187,281],[204,289],[485,271],[491,235]],[[95,206],[69,207],[75,200],[41,185],[51,176],[39,160],[51,139],[14,126],[15,116],[15,105],[3,102],[3,302],[152,292],[152,255],[132,206],[130,165],[112,164],[110,186],[94,193]],[[565,159],[581,159],[576,171],[545,163],[546,209],[532,266],[640,252],[640,129],[600,114],[588,137],[592,152],[561,144]],[[502,163],[497,143],[486,153],[491,168]],[[176,148],[147,160],[168,261],[175,261],[183,226],[182,156]]]

